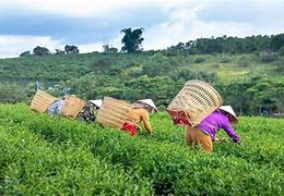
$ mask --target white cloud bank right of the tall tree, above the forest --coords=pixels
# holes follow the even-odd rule
[[[178,42],[186,42],[197,38],[210,38],[226,36],[246,37],[252,35],[275,35],[284,32],[282,28],[257,27],[248,23],[234,22],[202,22],[199,20],[184,23],[177,21],[171,23],[163,23],[150,28],[144,35],[143,48],[165,49]]]

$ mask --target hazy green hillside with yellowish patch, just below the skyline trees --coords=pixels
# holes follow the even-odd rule
[[[262,56],[272,56],[268,62]],[[0,78],[4,81],[44,79],[68,81],[85,74],[95,75],[173,75],[176,71],[216,73],[221,81],[238,81],[260,74],[281,77],[275,54],[177,54],[162,52],[141,53],[79,53],[62,56],[25,57],[0,59]],[[268,57],[267,57],[268,58]],[[146,73],[147,66],[154,72]],[[162,72],[161,72],[162,71]]]

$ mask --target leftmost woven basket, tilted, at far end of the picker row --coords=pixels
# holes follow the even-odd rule
[[[37,90],[32,102],[31,109],[43,113],[47,108],[55,102],[56,98],[43,90]]]

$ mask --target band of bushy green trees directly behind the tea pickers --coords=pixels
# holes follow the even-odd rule
[[[284,112],[284,86],[283,83],[253,76],[239,82],[210,82],[212,76],[206,73],[196,73],[187,79],[202,79],[221,94],[224,105],[234,107],[238,114],[259,114],[264,109],[270,113]],[[125,81],[108,75],[84,75],[80,78],[71,78],[61,82],[57,88],[44,88],[54,96],[63,96],[66,86],[69,94],[73,94],[85,100],[103,98],[104,96],[117,99],[135,101],[138,98],[152,98],[159,109],[165,110],[173,98],[186,83],[185,78],[173,79],[170,76],[139,77]],[[43,84],[42,84],[43,85]],[[21,87],[15,84],[0,84],[1,102],[29,102],[34,96],[34,86],[29,84]]]

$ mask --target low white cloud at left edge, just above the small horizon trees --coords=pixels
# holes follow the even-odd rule
[[[62,49],[62,40],[52,40],[48,36],[11,36],[0,35],[0,58],[19,57],[23,51],[31,52],[36,46],[42,46],[54,51]]]

